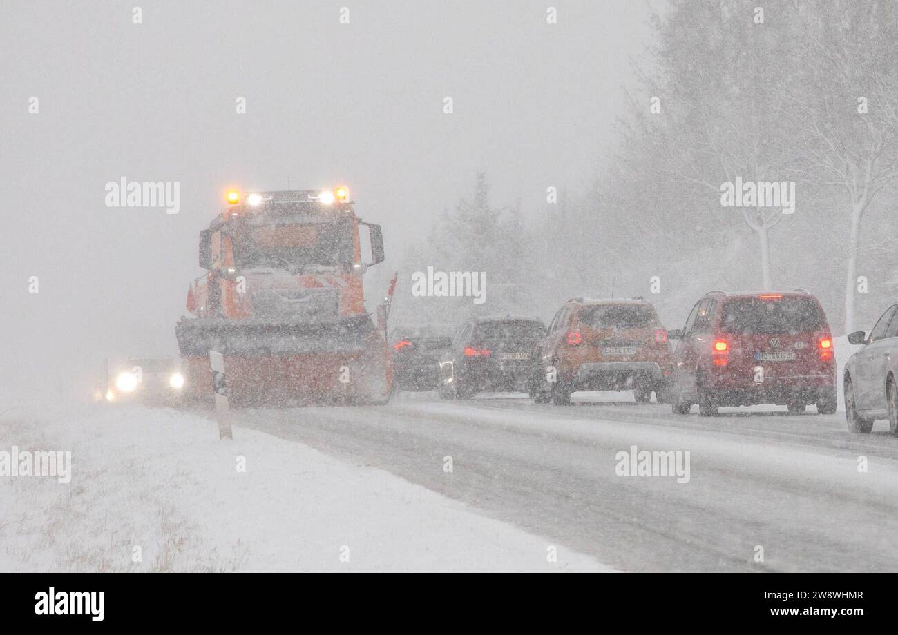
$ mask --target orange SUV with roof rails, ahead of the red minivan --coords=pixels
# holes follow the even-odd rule
[[[570,404],[577,390],[633,390],[638,404],[652,393],[668,400],[671,352],[651,303],[568,300],[536,347],[532,396],[538,404]]]

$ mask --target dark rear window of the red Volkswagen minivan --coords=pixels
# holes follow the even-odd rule
[[[720,318],[724,333],[786,334],[826,326],[820,305],[811,298],[738,298],[726,300]]]

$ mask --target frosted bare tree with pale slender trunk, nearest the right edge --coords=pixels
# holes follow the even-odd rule
[[[847,195],[843,325],[850,333],[864,214],[898,177],[898,16],[887,0],[814,9],[792,40],[802,72],[785,109],[798,146],[790,172]]]

